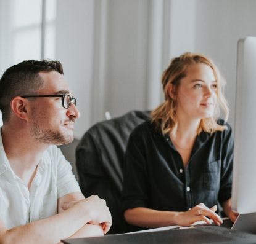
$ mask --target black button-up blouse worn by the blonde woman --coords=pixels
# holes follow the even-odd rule
[[[218,120],[223,125],[223,120]],[[186,168],[168,135],[151,122],[130,135],[123,168],[123,211],[147,207],[186,211],[199,203],[207,207],[231,197],[233,136],[231,127],[212,135],[201,132]]]

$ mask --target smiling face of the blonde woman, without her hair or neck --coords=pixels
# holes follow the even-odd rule
[[[189,119],[212,117],[217,103],[217,81],[204,63],[188,66],[175,92],[177,116]]]

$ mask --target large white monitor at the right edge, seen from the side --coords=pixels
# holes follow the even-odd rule
[[[256,37],[237,48],[232,209],[256,212]]]

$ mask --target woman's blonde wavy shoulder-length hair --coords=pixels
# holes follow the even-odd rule
[[[152,122],[154,122],[157,128],[160,128],[163,134],[170,132],[175,134],[177,128],[176,102],[175,99],[168,95],[168,84],[172,83],[176,90],[181,79],[186,77],[188,66],[198,63],[209,65],[217,81],[217,105],[215,106],[214,114],[210,118],[201,120],[198,133],[202,132],[202,130],[204,132],[214,133],[218,130],[223,131],[226,129],[225,125],[217,124],[217,119],[220,116],[220,108],[225,112],[225,121],[228,119],[229,114],[228,103],[223,95],[225,80],[220,75],[217,66],[214,65],[212,60],[198,53],[186,52],[180,55],[180,57],[173,58],[168,68],[163,72],[162,85],[165,101],[151,112]]]

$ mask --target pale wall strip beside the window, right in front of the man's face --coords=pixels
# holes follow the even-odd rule
[[[56,13],[56,59],[64,66],[81,118],[75,136],[80,138],[90,125],[93,84],[94,0],[59,0]]]

